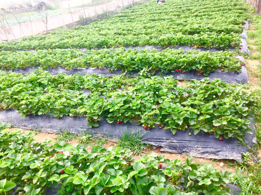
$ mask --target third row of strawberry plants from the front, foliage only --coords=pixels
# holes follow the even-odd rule
[[[52,69],[62,66],[66,69],[75,67],[109,68],[110,71],[120,69],[122,72],[140,74],[150,71],[154,74],[157,70],[168,73],[187,70],[196,70],[198,74],[207,76],[210,72],[221,69],[222,71],[240,72],[243,63],[233,57],[231,51],[199,51],[190,50],[184,53],[183,49],[169,49],[158,52],[152,50],[126,50],[124,48],[86,50],[82,53],[75,49],[54,49],[31,51],[2,51],[0,52],[0,68],[25,69],[28,66]]]

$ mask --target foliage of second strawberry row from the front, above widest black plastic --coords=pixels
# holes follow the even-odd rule
[[[254,94],[220,79],[177,86],[172,76],[108,78],[51,75],[39,70],[29,75],[1,71],[0,75],[1,109],[14,107],[22,118],[45,113],[57,118],[84,115],[90,127],[99,126],[101,117],[117,124],[138,120],[145,129],[158,126],[175,134],[189,127],[194,134],[204,131],[215,133],[217,138],[240,140],[245,133],[252,133],[248,119],[256,105]],[[91,93],[83,95],[81,89]]]

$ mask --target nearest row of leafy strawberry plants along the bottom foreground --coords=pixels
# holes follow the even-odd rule
[[[19,129],[2,130],[0,144],[0,194],[17,187],[20,195],[42,195],[60,185],[58,194],[72,195],[231,195],[232,172],[194,164],[191,156],[185,163],[156,153],[132,160],[129,149],[39,143]]]

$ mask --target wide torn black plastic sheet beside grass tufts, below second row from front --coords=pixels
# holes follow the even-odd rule
[[[254,123],[250,120],[249,128],[253,130],[253,134],[246,133],[245,140],[249,147],[253,145],[255,138]],[[60,119],[51,117],[50,114],[45,115],[27,115],[21,118],[18,111],[15,109],[4,110],[0,112],[0,122],[10,122],[13,127],[24,129],[39,129],[41,132],[46,133],[60,133],[69,131],[71,133],[88,132],[94,137],[108,136],[112,141],[117,141],[125,129],[131,132],[141,131],[144,133],[144,142],[151,144],[153,148],[161,146],[161,151],[180,153],[191,155],[193,157],[203,157],[208,159],[234,159],[242,161],[241,153],[247,152],[247,146],[237,145],[237,138],[219,139],[215,138],[214,134],[204,133],[200,131],[198,134],[191,136],[188,134],[192,130],[188,128],[186,131],[177,131],[175,135],[172,134],[170,129],[159,129],[158,126],[146,131],[141,125],[137,125],[137,121],[132,123],[116,122],[108,123],[105,118],[99,121],[99,127],[88,127],[88,121],[85,116],[70,117],[63,116]]]

